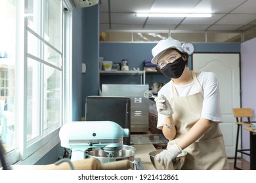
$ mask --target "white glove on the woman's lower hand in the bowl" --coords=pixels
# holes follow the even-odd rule
[[[156,155],[156,160],[160,163],[163,169],[169,169],[171,167],[171,161],[181,154],[181,147],[176,143],[167,150],[163,150],[160,154]]]

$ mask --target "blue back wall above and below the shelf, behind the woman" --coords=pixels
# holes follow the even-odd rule
[[[135,43],[135,42],[100,42],[100,57],[120,63],[121,59],[129,60],[129,69],[144,69],[143,61],[152,59],[151,50],[156,43]],[[195,52],[219,52],[219,53],[240,53],[240,43],[194,43]],[[188,58],[188,67],[192,69],[192,57]],[[165,84],[169,78],[163,75],[146,74],[146,84],[152,87],[153,83]],[[100,84],[139,84],[138,76],[100,76]]]

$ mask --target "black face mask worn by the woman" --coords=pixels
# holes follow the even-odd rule
[[[167,63],[167,65],[165,65],[165,67],[160,69],[160,71],[167,78],[179,78],[182,75],[185,69],[185,66],[186,66],[186,62],[181,57],[173,61],[173,63]]]

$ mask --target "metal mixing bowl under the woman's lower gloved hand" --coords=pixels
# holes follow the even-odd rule
[[[152,162],[152,164],[153,164],[153,166],[156,170],[167,170],[167,169],[163,169],[161,167],[160,163],[158,163],[158,160],[156,160],[156,158],[155,158],[155,156],[163,150],[164,149],[154,150],[154,151],[149,153],[150,160],[151,160],[151,162]],[[181,154],[179,154],[177,156],[177,158],[173,159],[173,161],[171,163],[171,166],[169,167],[168,170],[180,170],[182,168],[182,165],[184,164],[186,154],[187,154],[187,152],[182,150]]]

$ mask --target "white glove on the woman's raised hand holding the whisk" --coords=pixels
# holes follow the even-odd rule
[[[173,108],[171,108],[171,104],[165,96],[160,94],[154,100],[156,101],[156,109],[158,110],[158,113],[167,117],[171,117],[173,115]]]

